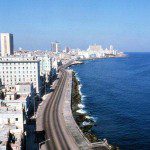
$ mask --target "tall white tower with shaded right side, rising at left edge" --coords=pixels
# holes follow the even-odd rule
[[[1,33],[1,56],[13,55],[14,44],[13,34]]]

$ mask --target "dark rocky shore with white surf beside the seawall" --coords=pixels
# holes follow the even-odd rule
[[[81,95],[79,91],[80,82],[76,78],[75,72],[72,73],[72,96],[71,96],[71,108],[73,117],[82,130],[84,136],[91,142],[100,142],[99,139],[93,132],[92,127],[95,125],[95,122],[92,117],[89,116],[85,111],[82,110],[83,105],[81,104]],[[117,146],[111,146],[111,150],[119,150]]]

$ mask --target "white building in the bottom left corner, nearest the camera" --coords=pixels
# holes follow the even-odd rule
[[[0,149],[21,150],[24,143],[24,116],[22,110],[0,106]]]

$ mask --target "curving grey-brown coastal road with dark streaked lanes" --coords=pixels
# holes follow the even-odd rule
[[[45,149],[50,150],[76,150],[76,145],[73,137],[65,126],[63,118],[63,90],[65,89],[65,83],[67,79],[67,71],[64,68],[60,68],[60,78],[55,87],[54,92],[48,97],[49,102],[44,110],[43,123],[45,131],[45,139],[49,141],[45,142]]]

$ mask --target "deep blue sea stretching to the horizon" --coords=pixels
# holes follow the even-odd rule
[[[150,53],[73,66],[92,131],[121,150],[150,150]]]

